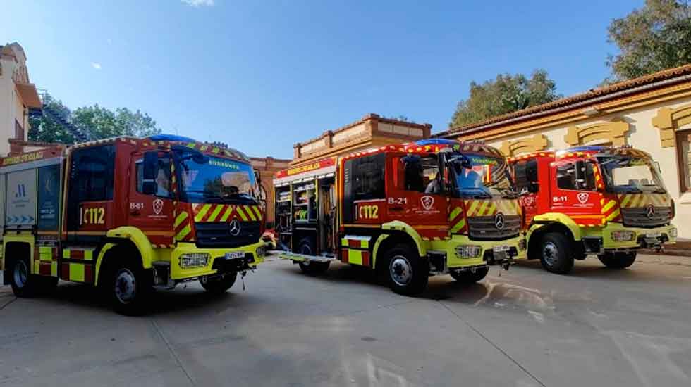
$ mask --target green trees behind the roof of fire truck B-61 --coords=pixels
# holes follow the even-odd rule
[[[75,127],[90,133],[93,140],[117,136],[147,137],[161,132],[161,129],[156,126],[156,122],[147,113],[142,113],[140,110],[136,112],[128,108],[109,110],[94,105],[70,111],[61,101],[54,99],[50,94],[44,96],[44,105],[48,105]],[[47,115],[32,119],[30,124],[29,139],[31,141],[65,144],[75,142],[73,135],[66,127]]]

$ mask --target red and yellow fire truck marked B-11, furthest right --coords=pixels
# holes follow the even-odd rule
[[[676,241],[674,201],[644,151],[581,146],[509,163],[522,194],[528,258],[550,272],[566,274],[587,255],[623,269],[637,250]]]

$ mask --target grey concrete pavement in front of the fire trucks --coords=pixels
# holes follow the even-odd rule
[[[87,286],[0,287],[0,386],[689,386],[691,258],[525,262],[420,298],[366,271],[272,260],[231,292],[157,293],[122,317]]]

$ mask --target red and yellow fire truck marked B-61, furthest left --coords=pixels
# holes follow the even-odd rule
[[[168,135],[2,158],[4,284],[92,284],[124,314],[185,281],[227,291],[263,260],[258,186],[243,153]]]

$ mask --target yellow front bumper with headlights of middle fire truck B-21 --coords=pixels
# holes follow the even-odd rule
[[[429,241],[427,250],[431,257],[445,255],[447,269],[505,265],[526,257],[523,236],[503,241],[473,241],[465,235],[453,235],[451,239]]]

